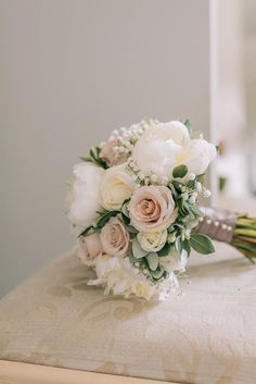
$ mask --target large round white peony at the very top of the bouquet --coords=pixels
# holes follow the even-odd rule
[[[149,127],[137,141],[132,159],[145,174],[171,177],[182,147],[190,141],[187,127],[180,122],[158,123]]]

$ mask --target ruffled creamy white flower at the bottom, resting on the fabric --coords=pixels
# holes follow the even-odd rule
[[[105,295],[121,295],[151,299],[156,288],[149,281],[135,272],[128,259],[102,256],[98,258],[95,265],[97,280],[89,281],[89,285],[102,285]]]

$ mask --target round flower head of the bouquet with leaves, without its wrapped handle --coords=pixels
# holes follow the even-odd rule
[[[204,175],[215,157],[189,121],[142,121],[91,148],[67,195],[77,255],[95,271],[88,284],[146,299],[176,290],[191,248],[214,252],[192,230],[205,216],[197,198],[210,196]]]

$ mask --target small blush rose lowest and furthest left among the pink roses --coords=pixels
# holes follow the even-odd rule
[[[101,238],[98,233],[81,237],[78,244],[78,257],[87,265],[93,265],[103,251]]]

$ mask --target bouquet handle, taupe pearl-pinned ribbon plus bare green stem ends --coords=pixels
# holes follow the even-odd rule
[[[201,207],[201,210],[205,215],[195,232],[230,244],[256,263],[256,218],[218,208]]]

